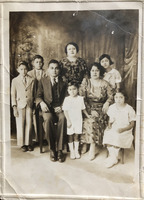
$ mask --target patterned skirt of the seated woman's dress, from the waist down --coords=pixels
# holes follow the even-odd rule
[[[90,102],[87,105],[87,111],[91,115],[95,112],[96,116],[83,121],[83,133],[81,143],[95,142],[102,145],[104,130],[108,124],[108,116],[102,112],[103,103]]]

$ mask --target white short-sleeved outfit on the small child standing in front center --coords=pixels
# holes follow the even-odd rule
[[[65,98],[62,109],[68,112],[72,126],[67,128],[67,134],[82,133],[82,110],[85,109],[84,99],[81,96]]]

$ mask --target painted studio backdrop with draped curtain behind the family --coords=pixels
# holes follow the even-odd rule
[[[112,57],[128,103],[136,109],[137,10],[11,12],[9,17],[11,79],[19,60],[26,60],[31,69],[33,55],[40,54],[46,68],[50,59],[65,57],[65,45],[73,41],[88,66],[103,53]]]

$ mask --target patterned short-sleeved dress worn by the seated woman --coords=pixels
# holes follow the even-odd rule
[[[112,88],[105,80],[100,79],[98,86],[93,85],[91,79],[84,78],[79,89],[80,95],[85,97],[87,112],[93,117],[85,118],[81,143],[95,142],[102,145],[104,130],[108,123],[108,116],[102,111],[105,102],[113,102]]]

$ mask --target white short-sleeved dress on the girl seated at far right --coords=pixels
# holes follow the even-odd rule
[[[106,129],[104,132],[103,144],[109,144],[120,148],[130,148],[133,141],[132,129],[119,133],[119,128],[124,128],[131,121],[136,120],[134,109],[126,104],[124,108],[118,109],[116,104],[112,104],[107,112],[112,128]]]

